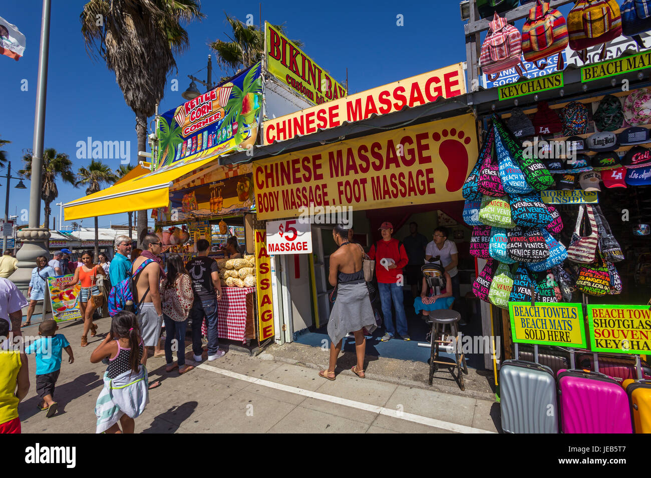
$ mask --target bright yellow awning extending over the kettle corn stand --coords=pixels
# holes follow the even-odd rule
[[[210,152],[212,151],[209,150],[208,153]],[[206,156],[209,157],[204,157],[199,161],[186,161],[184,165],[174,168],[168,166],[68,202],[63,205],[64,220],[169,206],[169,187],[172,185],[172,181],[214,161],[217,154]]]

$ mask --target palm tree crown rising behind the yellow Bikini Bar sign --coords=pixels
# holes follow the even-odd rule
[[[230,42],[215,40],[208,44],[217,54],[217,64],[221,68],[231,68],[233,75],[249,68],[249,66],[262,60],[264,55],[264,31],[261,31],[256,25],[245,25],[237,18],[226,16],[226,21],[233,31],[233,38],[229,37]],[[273,25],[273,27],[284,33],[283,25]],[[301,40],[292,40],[296,46],[303,46]],[[226,80],[227,78],[222,78]]]

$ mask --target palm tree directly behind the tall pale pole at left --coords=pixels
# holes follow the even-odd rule
[[[32,152],[27,150],[23,156],[23,169],[18,172],[31,179],[32,176]],[[49,216],[52,209],[49,207],[50,203],[59,197],[59,189],[57,188],[57,180],[61,179],[64,183],[68,183],[76,187],[77,178],[72,172],[72,161],[66,153],[59,153],[54,148],[48,148],[43,152],[42,170],[41,170],[41,199],[45,204],[45,215],[43,224],[49,229]],[[59,224],[61,227],[61,224]],[[49,245],[48,245],[49,246]]]

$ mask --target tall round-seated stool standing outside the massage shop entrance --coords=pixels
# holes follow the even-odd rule
[[[462,352],[459,352],[461,343],[456,343],[456,349],[454,350],[454,356],[456,358],[455,363],[451,362],[442,362],[437,360],[439,358],[439,344],[448,345],[453,343],[450,340],[443,340],[445,326],[449,326],[450,335],[455,339],[459,334],[458,322],[461,319],[461,314],[452,309],[439,309],[430,311],[429,320],[432,322],[432,347],[430,348],[430,375],[429,383],[432,385],[432,380],[434,379],[434,372],[439,369],[437,364],[445,365],[450,367],[450,372],[452,377],[454,377],[454,372],[452,368],[457,369],[457,375],[454,377],[455,380],[458,380],[459,387],[461,390],[465,390],[464,386],[464,376],[462,375],[462,364],[464,366],[463,373],[468,375],[468,366],[465,363],[465,356]]]

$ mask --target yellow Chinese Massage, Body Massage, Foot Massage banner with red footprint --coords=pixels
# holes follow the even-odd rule
[[[464,114],[254,163],[258,220],[311,206],[379,209],[463,200],[477,159],[475,118]]]

